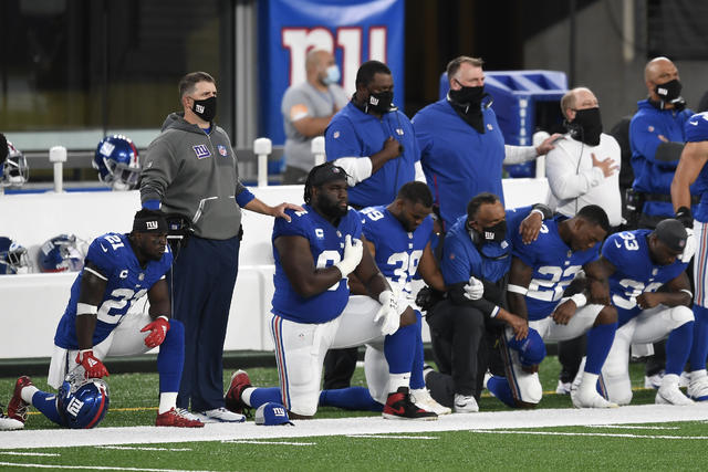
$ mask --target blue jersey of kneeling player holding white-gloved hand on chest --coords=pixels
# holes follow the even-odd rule
[[[352,239],[361,239],[362,220],[356,210],[351,209],[334,228],[332,223],[321,217],[309,204],[303,206],[304,211],[287,210],[291,221],[277,218],[273,224],[272,241],[279,237],[298,235],[310,242],[310,251],[315,266],[329,268],[344,256],[344,239],[347,234]],[[283,270],[281,254],[273,244],[273,258],[275,259],[275,275],[273,283],[273,313],[296,323],[326,323],[342,314],[350,297],[350,287],[346,279],[342,279],[329,290],[303,297],[295,292],[288,275]]]

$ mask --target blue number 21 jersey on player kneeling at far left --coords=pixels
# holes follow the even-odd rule
[[[131,306],[165,276],[173,263],[173,254],[167,247],[159,261],[149,261],[142,268],[127,234],[106,233],[93,240],[86,253],[86,262],[93,263],[107,279],[93,333],[95,346],[111,334]],[[69,305],[54,335],[54,344],[65,349],[79,348],[76,303],[84,271],[85,268],[76,275],[71,286]]]

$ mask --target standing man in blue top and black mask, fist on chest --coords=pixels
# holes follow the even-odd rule
[[[412,180],[425,180],[413,125],[394,105],[386,64],[368,61],[356,73],[356,93],[324,133],[327,160],[348,174],[350,204],[388,204]]]

